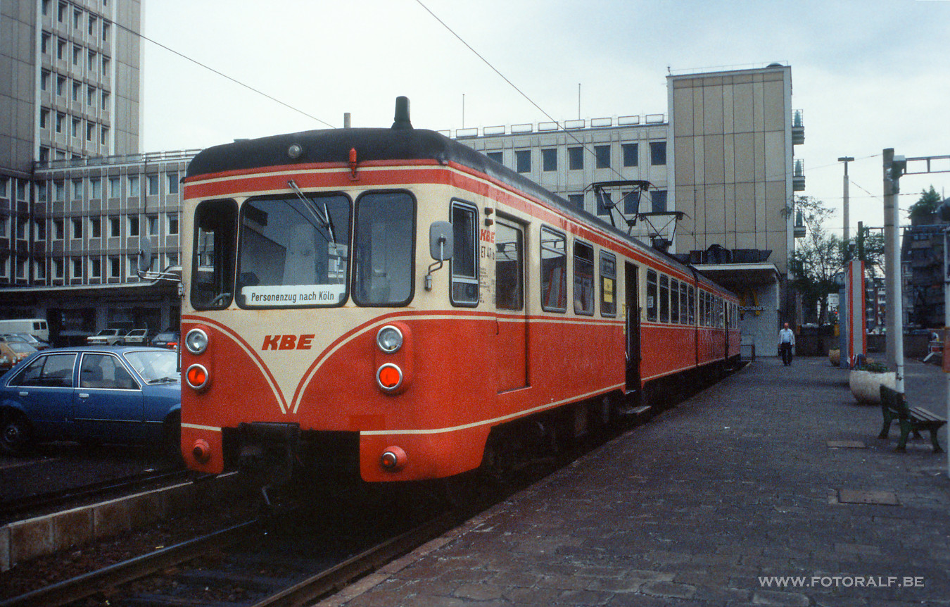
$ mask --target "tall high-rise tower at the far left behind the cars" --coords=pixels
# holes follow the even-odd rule
[[[0,284],[32,284],[47,255],[36,162],[139,151],[141,13],[141,0],[0,2]]]

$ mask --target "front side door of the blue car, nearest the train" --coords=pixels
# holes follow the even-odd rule
[[[84,352],[75,390],[76,438],[103,443],[142,441],[142,385],[119,356]]]

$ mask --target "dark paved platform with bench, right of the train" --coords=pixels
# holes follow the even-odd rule
[[[950,605],[947,456],[846,382],[760,359],[321,604]]]

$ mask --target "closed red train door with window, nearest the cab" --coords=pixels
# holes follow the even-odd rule
[[[524,228],[499,218],[495,227],[495,356],[498,391],[528,385],[524,304]]]

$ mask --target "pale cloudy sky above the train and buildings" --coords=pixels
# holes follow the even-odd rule
[[[807,196],[883,225],[881,152],[950,155],[950,0],[423,0],[556,120],[667,111],[667,69],[788,62]],[[320,120],[417,127],[548,119],[416,0],[144,0],[145,36]],[[325,128],[143,42],[142,151]],[[942,161],[941,168],[950,168]],[[950,173],[901,180],[906,209]],[[854,228],[852,227],[852,236]]]

